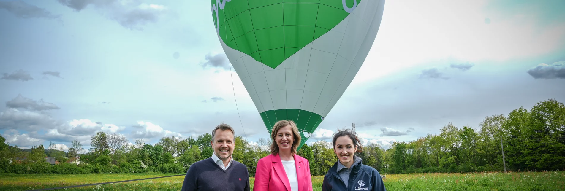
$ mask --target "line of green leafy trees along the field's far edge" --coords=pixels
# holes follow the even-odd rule
[[[536,103],[531,110],[517,108],[508,115],[487,116],[475,129],[448,123],[439,134],[394,142],[389,149],[364,145],[356,155],[381,173],[483,172],[565,170],[565,106],[555,99]],[[68,152],[54,142],[22,150],[0,135],[0,172],[10,173],[184,173],[190,164],[211,157],[212,135],[197,138],[162,137],[157,144],[138,139],[128,144],[121,134],[97,132],[85,150],[78,140]],[[255,175],[257,161],[270,154],[270,138],[250,144],[236,137],[233,159]],[[502,147],[505,154],[503,163]],[[312,175],[325,175],[337,161],[327,141],[303,145],[298,154],[310,161]],[[45,157],[54,157],[52,165]],[[24,158],[25,157],[25,158]]]

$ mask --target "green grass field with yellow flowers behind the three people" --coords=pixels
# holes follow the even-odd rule
[[[80,184],[144,179],[172,174],[40,175],[0,174],[0,190],[31,190]],[[180,190],[184,176],[83,186],[63,190]],[[251,186],[253,186],[251,178]],[[312,176],[314,190],[321,190],[323,176]],[[513,173],[412,173],[387,175],[386,190],[565,190],[565,172]]]

